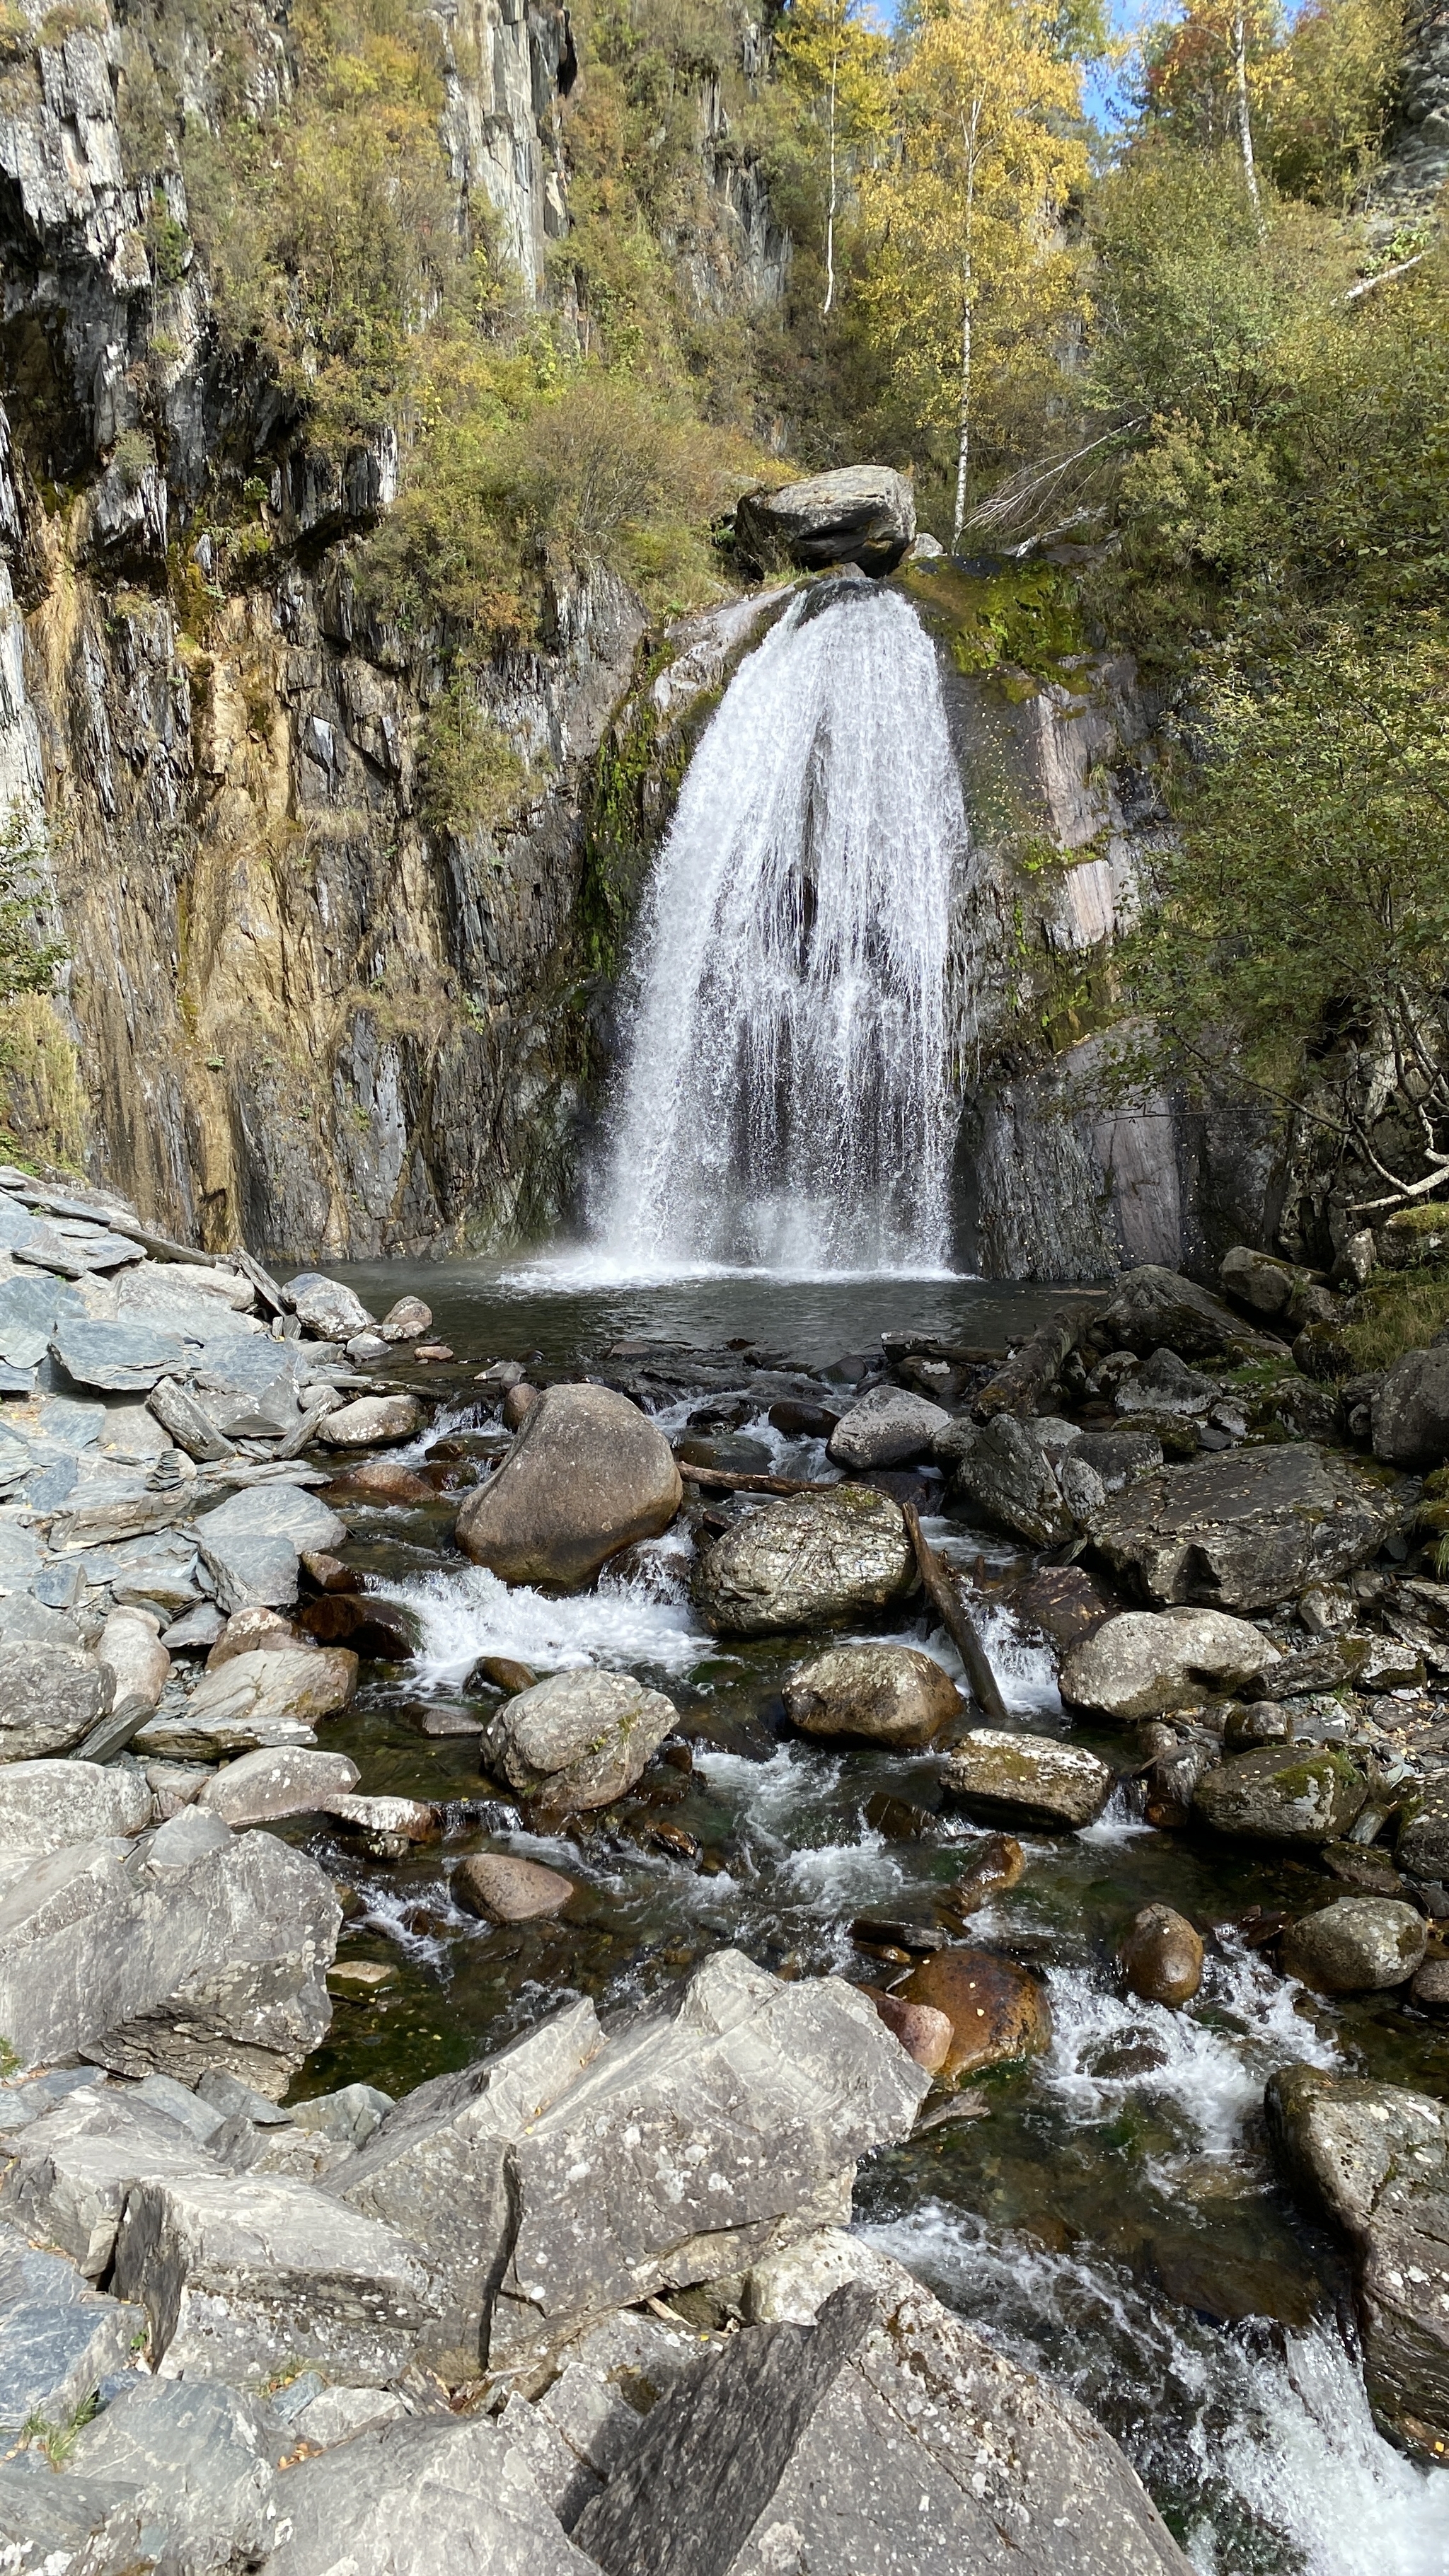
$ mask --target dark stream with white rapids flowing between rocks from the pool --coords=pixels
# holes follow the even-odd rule
[[[495,1358],[547,1378],[585,1373],[621,1340],[663,1340],[766,1345],[828,1368],[879,1350],[890,1329],[1000,1342],[1062,1301],[1052,1288],[941,1275],[706,1270],[601,1285],[601,1267],[596,1252],[559,1252],[511,1275],[480,1262],[340,1273],[374,1311],[423,1296],[456,1355],[405,1368],[438,1414],[394,1455],[420,1463],[438,1440],[500,1453],[498,1414],[472,1386]],[[660,1414],[670,1435],[686,1432],[691,1404]],[[714,1463],[748,1453],[804,1476],[825,1458],[763,1414],[722,1435]],[[722,1649],[706,1636],[688,1600],[688,1540],[676,1533],[632,1551],[627,1579],[606,1569],[593,1592],[544,1597],[464,1564],[454,1512],[456,1494],[436,1507],[348,1504],[343,1553],[369,1589],[410,1607],[418,1654],[364,1664],[358,1698],[325,1741],[358,1762],[369,1793],[443,1801],[449,1824],[443,1844],[397,1865],[358,1862],[315,1821],[281,1829],[351,1888],[340,1958],[392,1971],[369,2002],[338,2002],[299,2089],[364,2079],[405,2092],[567,1996],[634,2004],[724,1942],[784,1976],[879,1976],[851,1919],[931,1919],[933,1891],[962,1875],[980,1839],[933,1811],[931,1757],[792,1736],[779,1690],[802,1643]],[[1049,1649],[995,1600],[1011,1548],[938,1507],[926,1528],[972,1569],[1013,1723],[1065,1734]],[[900,1636],[959,1672],[938,1631],[926,1641],[905,1618]],[[482,1654],[536,1674],[570,1664],[639,1674],[676,1700],[694,1767],[655,1765],[634,1798],[580,1819],[570,1837],[526,1834],[480,1775],[477,1723],[498,1703],[464,1685]],[[1119,1734],[1075,1734],[1124,1759]],[[1302,1862],[1158,1834],[1132,1821],[1122,1793],[1085,1832],[1021,1842],[1024,1880],[975,1917],[972,1937],[1047,1981],[1055,2045],[969,2087],[969,2110],[985,2115],[946,2117],[866,2164],[856,2223],[1109,2424],[1201,2576],[1444,2576],[1446,2478],[1410,2465],[1369,2421],[1348,2269],[1276,2184],[1261,2097],[1292,2058],[1444,2094],[1449,2038],[1392,1996],[1307,1996],[1245,1945],[1232,1919],[1302,1901],[1315,1883]],[[462,1914],[449,1870],[485,1847],[567,1870],[565,1914],[516,1927]],[[1111,1965],[1127,1919],[1155,1899],[1222,1927],[1183,2012],[1134,2002]]]

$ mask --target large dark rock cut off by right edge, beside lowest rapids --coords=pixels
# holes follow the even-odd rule
[[[1395,2442],[1449,2442],[1449,2110],[1397,2084],[1284,2066],[1269,2138],[1307,2205],[1356,2254],[1364,2385]]]

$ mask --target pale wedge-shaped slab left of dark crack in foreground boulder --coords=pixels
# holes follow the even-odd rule
[[[474,2380],[513,2236],[511,2148],[603,2048],[593,2004],[567,2004],[480,2066],[420,2084],[338,2174],[348,2208],[397,2228],[428,2272],[420,2357]]]

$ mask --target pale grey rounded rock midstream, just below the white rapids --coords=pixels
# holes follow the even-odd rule
[[[495,1721],[508,1785],[559,1816],[624,1798],[676,1723],[673,1700],[627,1672],[554,1672]]]

